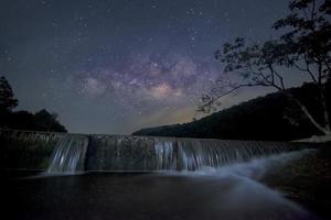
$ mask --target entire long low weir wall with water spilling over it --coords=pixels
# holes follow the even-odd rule
[[[1,167],[83,170],[199,170],[297,151],[292,142],[0,131]]]

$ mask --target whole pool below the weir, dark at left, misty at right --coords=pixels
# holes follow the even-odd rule
[[[265,172],[309,151],[218,169],[85,173],[8,178],[8,219],[316,219],[260,184]]]

